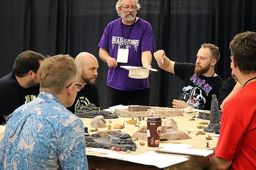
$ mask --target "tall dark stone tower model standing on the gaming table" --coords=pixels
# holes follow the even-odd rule
[[[210,106],[210,124],[204,128],[205,132],[220,134],[220,112],[219,104],[215,94],[212,94],[211,106]]]

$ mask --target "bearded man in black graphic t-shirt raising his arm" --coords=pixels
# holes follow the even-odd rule
[[[220,59],[219,48],[214,44],[202,44],[196,57],[196,64],[180,63],[168,59],[163,50],[154,53],[160,68],[175,74],[183,80],[179,100],[173,100],[174,108],[210,110],[212,94],[219,98],[222,79],[215,72]]]

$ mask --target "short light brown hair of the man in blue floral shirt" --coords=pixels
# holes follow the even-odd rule
[[[78,66],[70,55],[56,55],[45,59],[39,68],[40,91],[45,88],[60,93],[78,76]]]

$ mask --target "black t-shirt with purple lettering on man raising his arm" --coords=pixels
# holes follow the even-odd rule
[[[223,80],[219,77],[205,77],[195,74],[195,64],[179,63],[174,65],[174,72],[183,80],[183,88],[179,100],[195,109],[210,110],[212,94],[219,99],[219,90]]]

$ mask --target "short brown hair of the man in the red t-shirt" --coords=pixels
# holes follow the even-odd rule
[[[234,61],[243,74],[256,71],[256,33],[244,32],[234,36],[229,44]]]

